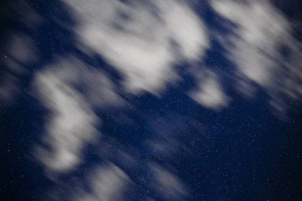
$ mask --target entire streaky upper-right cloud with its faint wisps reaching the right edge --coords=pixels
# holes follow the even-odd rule
[[[291,23],[268,1],[211,1],[211,6],[236,24],[234,34],[219,37],[236,64],[235,87],[251,96],[256,83],[270,95],[270,105],[286,111],[284,97],[298,100],[302,95],[302,46],[292,36]],[[288,48],[287,55],[282,47]]]

